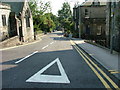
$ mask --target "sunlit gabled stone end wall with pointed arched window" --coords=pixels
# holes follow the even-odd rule
[[[29,26],[27,26],[27,18],[29,18]],[[33,31],[33,18],[32,13],[29,8],[28,2],[24,3],[23,10],[21,13],[21,20],[22,20],[22,32],[23,32],[23,38],[24,41],[32,41],[34,40],[34,31]]]

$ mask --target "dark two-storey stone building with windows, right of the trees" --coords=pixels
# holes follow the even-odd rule
[[[101,0],[86,0],[74,8],[75,30],[79,37],[95,39],[105,36],[106,2]]]

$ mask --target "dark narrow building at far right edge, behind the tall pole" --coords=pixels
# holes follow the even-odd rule
[[[106,38],[108,48],[120,51],[120,0],[107,3]]]

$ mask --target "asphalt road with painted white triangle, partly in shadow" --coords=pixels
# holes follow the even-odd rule
[[[60,31],[2,51],[1,63],[3,88],[106,88]]]

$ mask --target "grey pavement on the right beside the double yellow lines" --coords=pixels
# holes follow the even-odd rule
[[[89,44],[82,39],[75,39],[73,41],[82,48],[90,57],[94,58],[111,74],[120,80],[120,56],[119,53],[110,53],[109,50]]]

